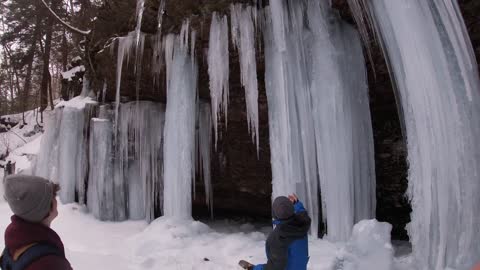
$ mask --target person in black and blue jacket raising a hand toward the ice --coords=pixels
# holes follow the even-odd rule
[[[272,205],[275,228],[267,238],[268,262],[253,270],[306,270],[311,219],[296,195],[277,197]]]

